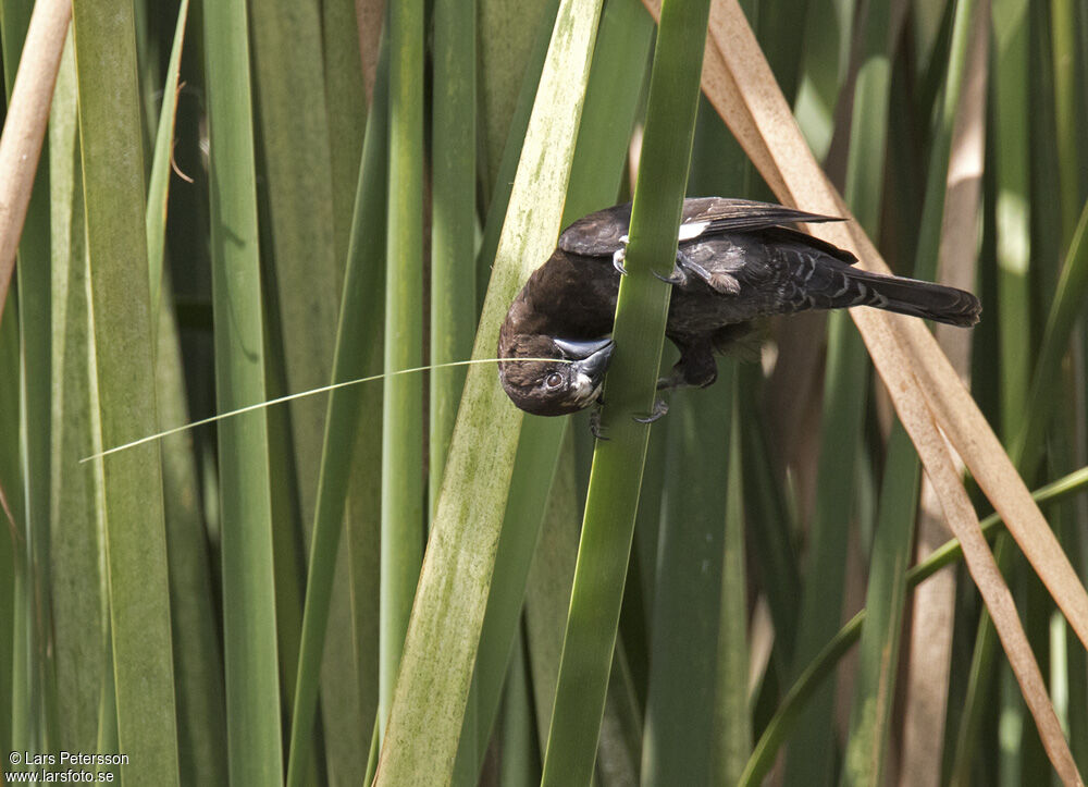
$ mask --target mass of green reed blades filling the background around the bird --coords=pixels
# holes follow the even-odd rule
[[[939,339],[1084,581],[1088,5],[741,5],[885,258],[981,298]],[[32,8],[0,0],[9,97]],[[670,211],[770,199],[693,111],[709,8],[74,0],[0,321],[0,749],[149,785],[1054,778],[844,313],[627,418],[673,361]],[[632,198],[614,441],[490,362],[391,374],[490,358],[561,226]],[[1084,647],[986,528],[1084,771]]]

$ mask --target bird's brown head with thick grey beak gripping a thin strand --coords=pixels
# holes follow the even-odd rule
[[[499,344],[498,378],[506,395],[526,413],[564,416],[589,407],[601,395],[613,341],[589,342],[518,334]]]

